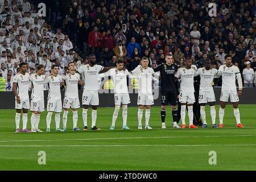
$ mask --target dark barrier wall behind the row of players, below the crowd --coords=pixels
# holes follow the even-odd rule
[[[221,88],[214,88],[217,104],[219,104]],[[31,93],[30,93],[31,94]],[[47,104],[48,91],[44,92],[45,103]],[[61,92],[61,97],[64,97],[64,92]],[[114,94],[103,93],[99,94],[100,107],[114,107]],[[129,106],[137,106],[138,94],[131,93],[131,104]],[[79,90],[80,104],[82,104],[82,90]],[[243,88],[243,94],[240,97],[240,104],[256,104],[256,88]],[[155,106],[160,106],[160,96],[155,100]],[[46,105],[45,105],[46,106]],[[0,109],[14,109],[15,96],[13,92],[0,92]]]

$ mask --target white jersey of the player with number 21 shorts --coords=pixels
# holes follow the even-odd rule
[[[63,82],[60,75],[48,76],[44,81],[49,86],[48,100],[61,100],[60,83]]]

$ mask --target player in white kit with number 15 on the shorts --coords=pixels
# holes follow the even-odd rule
[[[122,104],[122,117],[123,117],[123,130],[130,130],[126,125],[127,123],[127,105],[130,104],[130,96],[127,88],[127,76],[130,73],[124,68],[123,59],[117,60],[117,67],[110,69],[108,72],[101,73],[99,77],[109,77],[111,76],[114,82],[114,100],[115,100],[115,110],[112,118],[112,126],[110,130],[115,129],[115,121],[117,120],[119,109]]]

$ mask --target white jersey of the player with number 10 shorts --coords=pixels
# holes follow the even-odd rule
[[[32,98],[41,98],[44,97],[44,79],[45,75],[38,75],[36,73],[30,75],[30,81],[34,85],[31,93]]]

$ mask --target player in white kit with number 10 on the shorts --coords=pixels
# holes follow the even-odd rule
[[[36,68],[36,73],[30,75],[33,89],[31,93],[31,131],[43,132],[38,128],[40,114],[44,111],[44,65],[39,64]]]

